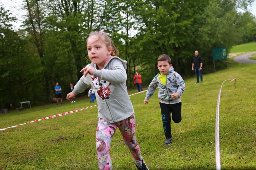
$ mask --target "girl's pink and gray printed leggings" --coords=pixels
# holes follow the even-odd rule
[[[142,163],[140,147],[135,137],[135,116],[132,115],[117,123],[109,123],[99,118],[96,131],[96,149],[100,170],[112,170],[113,168],[109,149],[117,128],[121,132],[125,145],[129,149],[135,164],[140,165]]]

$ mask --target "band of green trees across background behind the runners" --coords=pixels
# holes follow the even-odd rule
[[[161,54],[168,54],[175,71],[188,78],[194,76],[191,62],[198,50],[203,73],[211,73],[212,48],[225,46],[229,52],[233,45],[255,40],[255,17],[246,12],[251,3],[25,0],[25,21],[18,31],[10,24],[15,18],[1,6],[0,92],[4,95],[0,107],[4,103],[17,106],[24,100],[33,106],[49,103],[55,97],[56,82],[66,96],[69,84],[75,84],[81,78],[80,70],[90,63],[86,38],[91,31],[104,30],[120,58],[127,60],[128,87],[133,86],[135,71],[142,75],[143,84],[149,84],[158,73],[156,60]],[[238,7],[245,12],[238,12]],[[217,70],[226,68],[224,62],[215,64]]]

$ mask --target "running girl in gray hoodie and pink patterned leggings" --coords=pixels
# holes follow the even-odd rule
[[[91,64],[67,95],[72,100],[88,86],[93,86],[98,103],[96,149],[101,170],[113,169],[110,143],[118,128],[138,169],[148,170],[135,137],[135,116],[126,87],[126,61],[120,59],[113,41],[103,32],[91,32],[86,40]],[[116,55],[116,56],[114,56]],[[97,93],[96,93],[97,91]]]

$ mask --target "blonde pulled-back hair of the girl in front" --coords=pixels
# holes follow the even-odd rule
[[[93,36],[93,35],[98,36],[105,43],[105,45],[107,47],[112,47],[112,51],[111,51],[110,55],[112,55],[112,56],[118,56],[119,55],[119,52],[116,49],[113,40],[110,39],[109,36],[106,35],[106,33],[104,31],[94,31],[94,32],[91,32],[89,34],[88,38],[90,36]],[[86,44],[87,44],[88,38],[86,39]]]

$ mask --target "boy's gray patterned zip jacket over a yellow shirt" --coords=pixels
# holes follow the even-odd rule
[[[156,88],[159,87],[158,98],[161,103],[175,104],[181,102],[181,95],[185,90],[185,83],[181,75],[176,71],[171,70],[167,73],[166,85],[163,85],[159,80],[159,74],[160,73],[158,73],[150,83],[147,89],[146,99],[150,99],[156,91]],[[177,93],[179,97],[177,99],[173,99],[171,97],[173,93]]]

